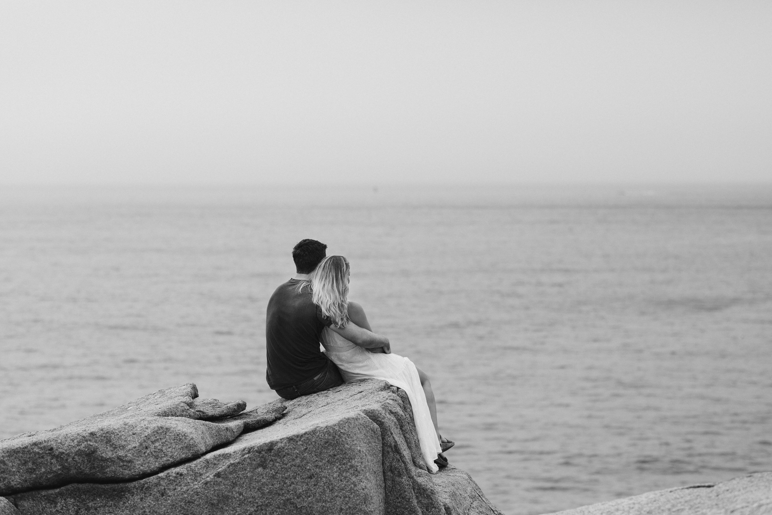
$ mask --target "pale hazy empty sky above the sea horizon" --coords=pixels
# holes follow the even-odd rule
[[[0,7],[0,182],[770,181],[772,2]]]

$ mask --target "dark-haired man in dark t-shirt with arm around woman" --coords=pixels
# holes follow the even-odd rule
[[[273,292],[266,310],[266,380],[279,397],[293,399],[343,384],[337,366],[319,350],[322,330],[330,327],[348,341],[365,348],[388,347],[387,337],[371,333],[349,322],[331,325],[311,301],[303,280],[327,256],[327,246],[315,239],[303,239],[292,251],[297,273]]]

